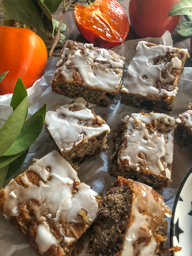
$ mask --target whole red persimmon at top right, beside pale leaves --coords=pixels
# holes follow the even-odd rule
[[[161,37],[166,30],[174,31],[180,15],[167,16],[180,0],[130,0],[129,18],[135,33],[144,37]]]

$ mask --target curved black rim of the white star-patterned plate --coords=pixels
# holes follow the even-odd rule
[[[173,231],[174,231],[174,217],[175,217],[175,210],[176,210],[176,206],[177,206],[177,203],[179,201],[179,196],[180,196],[180,193],[185,185],[185,182],[187,181],[189,175],[192,173],[192,168],[188,171],[188,173],[185,175],[185,178],[182,180],[181,184],[180,184],[180,187],[177,191],[177,194],[175,196],[175,200],[174,200],[174,203],[173,203],[173,208],[172,208],[172,217],[171,217],[171,223],[170,223],[170,248],[173,247]],[[174,255],[174,253],[172,252],[171,255]]]

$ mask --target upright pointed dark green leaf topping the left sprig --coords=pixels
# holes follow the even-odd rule
[[[27,90],[25,88],[25,85],[23,84],[23,81],[20,78],[18,78],[15,84],[13,96],[10,103],[10,106],[13,108],[13,111],[15,110],[15,108],[19,106],[19,104],[22,102],[22,100],[25,99],[26,96]]]

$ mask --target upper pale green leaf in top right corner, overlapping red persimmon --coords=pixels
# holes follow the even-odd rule
[[[168,16],[174,15],[192,15],[192,1],[191,0],[181,0],[177,2],[168,13]]]

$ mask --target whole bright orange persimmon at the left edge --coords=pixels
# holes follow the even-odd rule
[[[0,49],[0,75],[9,71],[0,83],[0,95],[12,93],[18,77],[29,88],[44,75],[47,49],[33,31],[0,25]]]

